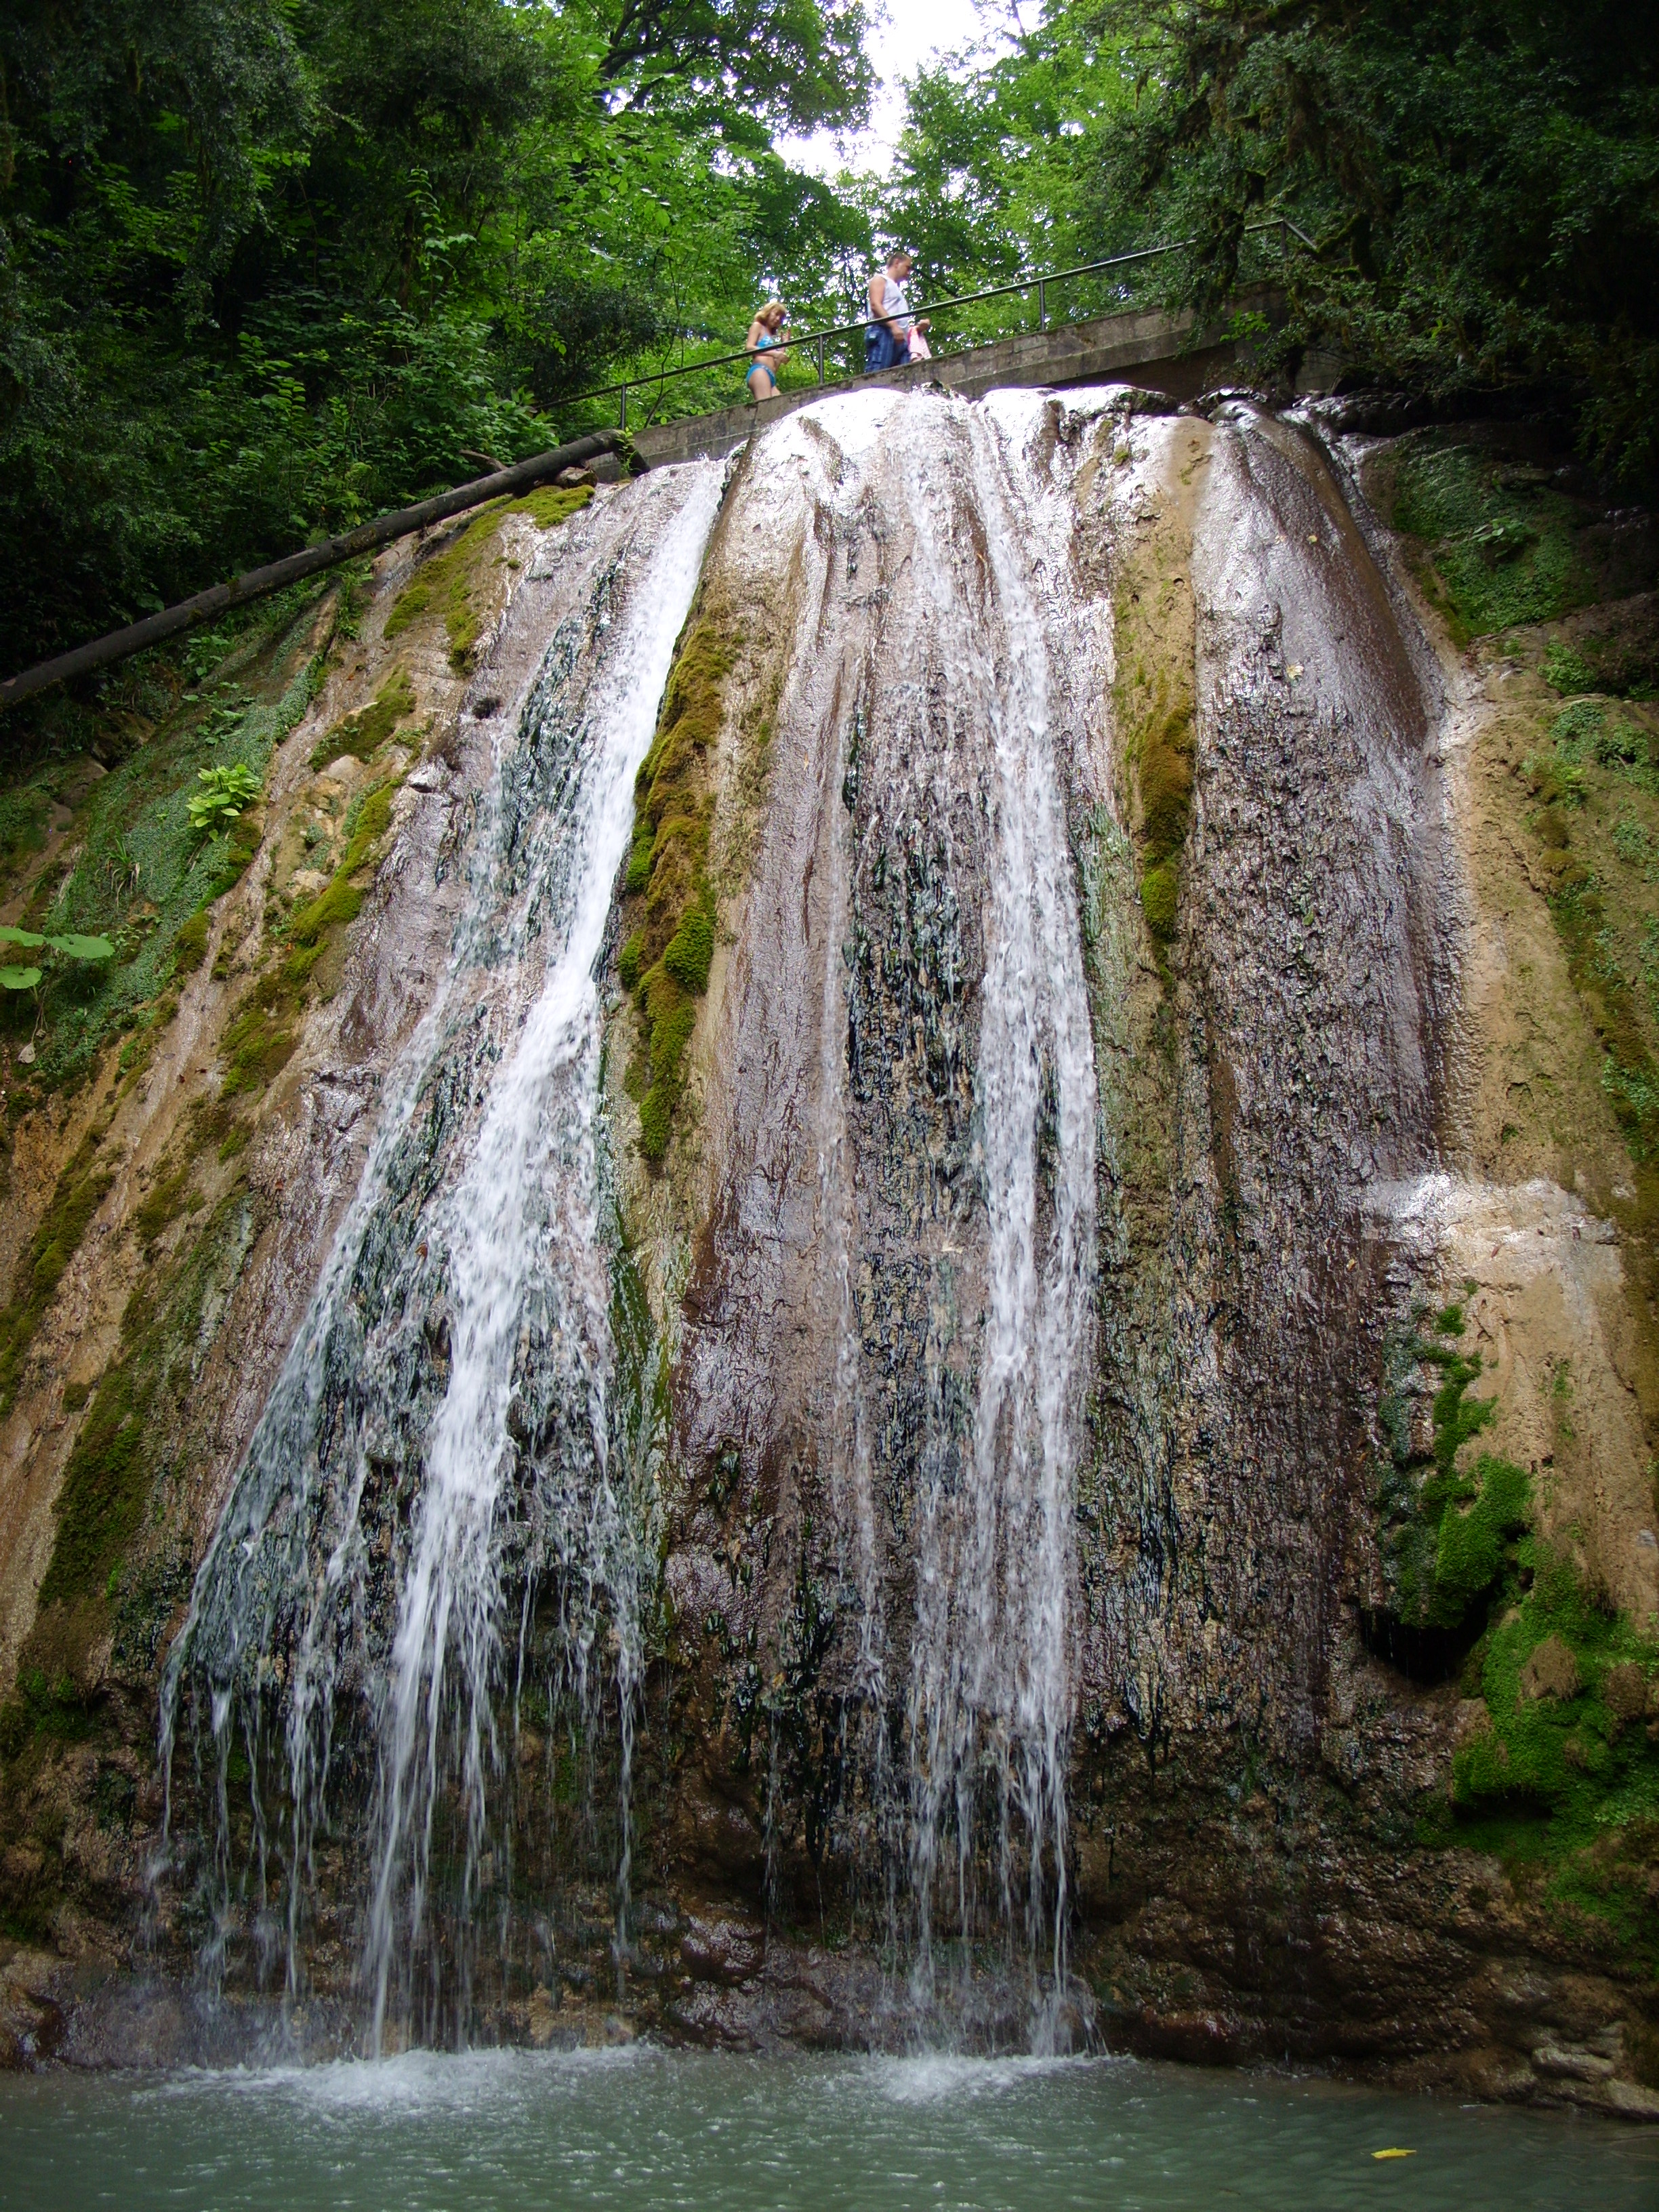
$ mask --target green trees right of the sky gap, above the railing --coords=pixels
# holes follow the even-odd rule
[[[993,276],[1164,239],[1217,310],[1287,217],[1281,365],[1533,394],[1659,478],[1659,38],[1617,0],[1048,0],[922,75],[883,221]],[[1245,270],[1248,272],[1248,270]]]

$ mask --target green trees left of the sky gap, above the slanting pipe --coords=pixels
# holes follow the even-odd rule
[[[841,299],[856,0],[77,0],[0,15],[0,664],[584,427]],[[555,420],[538,409],[557,407]]]

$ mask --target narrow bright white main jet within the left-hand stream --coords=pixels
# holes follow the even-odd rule
[[[498,1077],[467,1172],[434,1223],[453,1254],[453,1363],[427,1447],[420,1531],[405,1582],[392,1646],[387,1730],[383,1734],[380,1869],[369,1916],[374,2039],[380,2042],[387,1984],[400,1924],[396,1889],[407,1867],[409,1936],[425,1916],[431,1809],[440,1774],[440,1719],[449,1657],[460,1666],[465,1697],[465,1794],[469,1847],[484,1823],[484,1739],[493,1732],[491,1688],[502,1621],[502,1555],[495,1517],[515,1460],[509,1433],[518,1336],[531,1272],[546,1263],[549,1239],[580,1252],[597,1250],[597,1179],[593,1102],[599,1062],[599,993],[595,969],[604,947],[611,891],[633,830],[633,783],[650,748],[657,703],[668,681],[672,644],[690,608],[703,542],[712,522],[712,487],[670,526],[648,591],[622,615],[624,637],[606,657],[608,692],[593,708],[582,796],[573,810],[568,911],[551,914],[551,953],[540,998],[524,1018],[520,1042]],[[531,1192],[538,1199],[531,1201]],[[593,1279],[586,1329],[604,1343],[608,1285]],[[588,1371],[588,1427],[595,1440],[591,1504],[593,1555],[617,1555],[624,1513],[608,1475],[604,1385]],[[630,1577],[615,1577],[624,1754],[619,1882],[628,1882],[628,1745],[639,1679],[639,1621]]]

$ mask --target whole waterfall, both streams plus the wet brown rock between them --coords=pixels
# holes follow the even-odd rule
[[[507,1732],[531,1677],[606,1745],[626,1900],[659,1575],[666,1679],[699,1650],[730,1670],[717,1787],[754,1792],[768,1907],[803,1820],[860,1896],[878,1876],[911,2020],[960,2011],[1002,1933],[998,1986],[1055,2033],[1097,1349],[1068,825],[1079,776],[1102,807],[1077,732],[1110,650],[1055,420],[1020,394],[832,398],[726,493],[703,465],[602,502],[520,586],[535,675],[480,781],[449,971],[164,1701],[164,1756],[186,1710],[212,1752],[219,1949],[252,1924],[299,1995],[321,1900],[356,1900],[376,2048],[465,2035],[480,1931],[529,1918]],[[699,770],[732,956],[648,1170],[635,1011],[604,978],[699,577],[743,686]],[[648,1378],[613,1323],[635,1250]],[[622,1971],[622,1920],[615,1949]]]

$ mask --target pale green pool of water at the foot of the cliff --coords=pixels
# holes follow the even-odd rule
[[[1655,2212],[1659,2128],[1099,2057],[407,2053],[0,2081],[13,2205]]]

